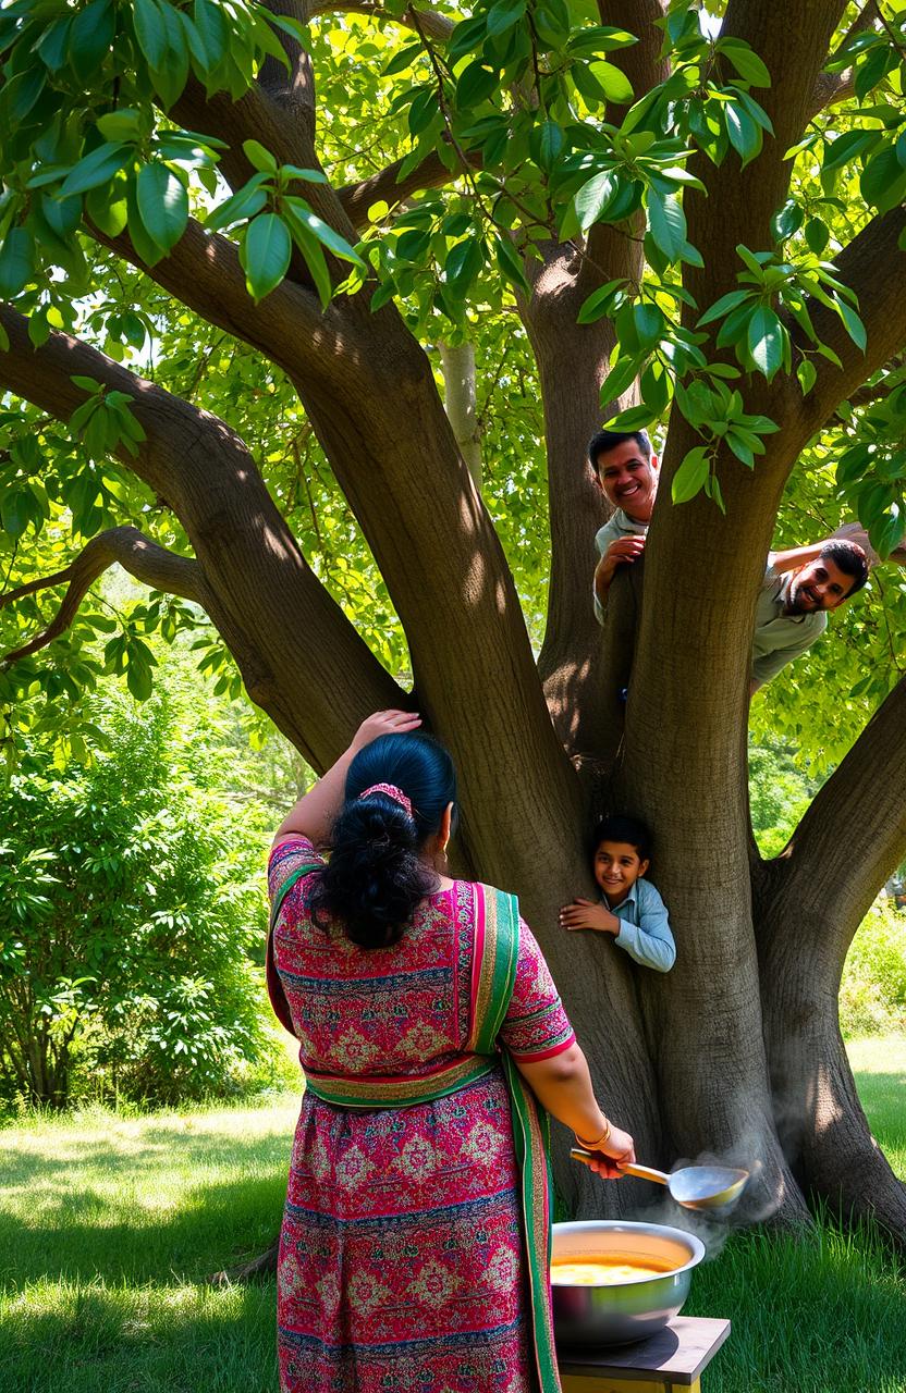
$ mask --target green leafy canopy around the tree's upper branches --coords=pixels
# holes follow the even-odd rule
[[[386,10],[403,18],[401,4]],[[673,499],[683,503],[704,490],[722,507],[721,451],[755,468],[776,429],[768,415],[747,410],[751,383],[792,378],[808,396],[815,364],[835,357],[815,327],[817,309],[839,320],[853,343],[864,341],[859,305],[836,274],[835,256],[870,209],[893,206],[906,167],[905,21],[888,4],[884,24],[854,35],[831,64],[829,71],[854,65],[856,98],[820,113],[790,152],[793,181],[774,219],[775,245],[740,244],[736,288],[698,305],[687,281],[701,251],[689,241],[686,208],[707,189],[709,167],[728,160],[747,167],[774,138],[761,104],[771,74],[758,54],[679,0],[662,24],[669,77],[634,93],[620,64],[636,36],[590,22],[562,0],[478,0],[467,17],[440,6],[445,15],[446,42],[425,25],[378,28],[357,14],[325,15],[302,31],[247,0],[77,7],[17,0],[0,24],[0,132],[7,137],[0,288],[29,316],[35,343],[52,330],[77,330],[233,425],[316,574],[400,676],[408,653],[386,586],[290,386],[100,251],[95,230],[107,240],[127,230],[155,267],[194,217],[209,235],[236,244],[256,301],[301,258],[323,305],[340,291],[361,291],[375,311],[393,299],[432,352],[442,338],[474,340],[485,501],[539,641],[548,571],[544,422],[537,369],[514,329],[514,298],[527,294],[545,245],[553,238],[581,248],[595,227],[626,230],[634,220],[644,237],[641,283],[598,286],[578,316],[588,325],[606,316],[616,327],[602,403],[637,379],[640,404],[612,423],[662,433],[670,412],[682,414],[698,443],[675,476]],[[319,128],[321,167],[283,164],[248,139],[249,177],[227,191],[219,174],[223,142],[183,128],[178,99],[195,82],[208,95],[240,100],[266,60],[286,64],[283,40],[309,49],[319,102],[332,113]],[[360,139],[364,121],[367,142]],[[406,180],[428,157],[446,167],[447,185],[376,199],[357,247],[315,210],[328,184],[340,188],[393,160]],[[810,446],[781,520],[790,542],[814,539],[850,511],[882,554],[903,536],[900,380],[896,364],[875,375],[870,386],[884,394],[880,401],[854,403]],[[68,432],[14,403],[0,419],[7,449],[0,564],[8,586],[33,575],[45,557],[50,570],[63,564],[70,522],[79,540],[114,521],[134,521],[188,552],[166,501],[123,464],[141,449],[134,412],[117,393],[85,391]],[[35,632],[59,596],[57,589],[17,605],[8,646],[20,630]],[[105,631],[110,620],[98,663],[86,656],[89,630]],[[29,719],[46,720],[47,729],[56,722],[78,738],[81,691],[105,671],[123,671],[132,692],[145,695],[153,684],[153,663],[141,646],[148,635],[198,623],[190,606],[158,598],[144,614],[125,617],[85,606],[75,630],[46,657],[0,673],[7,720],[0,740],[6,734],[14,751]],[[806,677],[825,671],[828,645],[797,664],[794,678],[785,676],[782,691],[775,684],[778,691],[760,698],[760,710],[796,744],[827,759],[839,758],[900,676],[902,588],[878,581],[871,606],[860,603],[835,624],[847,641],[838,687],[847,684],[853,701],[828,738],[807,729],[799,703]],[[4,638],[11,628],[4,625]],[[199,653],[222,690],[238,690],[227,655],[208,632],[199,634]]]

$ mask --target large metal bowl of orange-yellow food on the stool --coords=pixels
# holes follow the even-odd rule
[[[682,1229],[658,1223],[611,1222],[553,1224],[553,1259],[606,1256],[613,1262],[669,1265],[655,1277],[615,1286],[555,1286],[553,1326],[559,1344],[630,1344],[645,1340],[679,1315],[704,1244]]]

